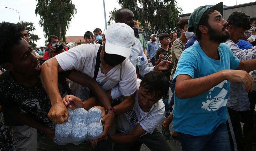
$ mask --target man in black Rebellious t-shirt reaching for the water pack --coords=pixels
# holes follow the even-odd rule
[[[60,146],[53,141],[54,123],[48,118],[52,104],[40,80],[40,61],[32,54],[33,50],[30,45],[21,39],[15,24],[0,23],[0,32],[0,65],[7,70],[0,75],[0,105],[3,111],[22,124],[38,130],[37,150],[90,149],[90,143],[80,145],[68,143]],[[58,75],[58,88],[62,97],[72,94],[66,83],[66,77],[89,87],[101,103],[107,102],[110,105],[100,85],[92,78],[77,71],[67,71]],[[9,118],[5,123],[15,124],[12,123],[13,121],[14,119]]]

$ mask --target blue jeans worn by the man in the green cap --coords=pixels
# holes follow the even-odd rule
[[[225,123],[211,134],[192,136],[179,132],[180,143],[183,151],[230,151],[229,134]]]

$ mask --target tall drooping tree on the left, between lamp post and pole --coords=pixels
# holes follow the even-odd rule
[[[71,0],[36,0],[35,14],[40,16],[39,24],[44,27],[45,38],[55,35],[60,43],[66,43],[66,32],[71,18],[76,14]]]

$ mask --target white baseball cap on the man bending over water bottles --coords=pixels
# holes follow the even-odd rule
[[[124,23],[113,23],[105,34],[105,51],[107,54],[128,58],[134,44],[134,30]]]

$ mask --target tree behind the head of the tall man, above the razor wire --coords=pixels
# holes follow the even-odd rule
[[[118,0],[118,3],[134,13],[144,30],[176,27],[178,14],[182,11],[176,0]],[[113,11],[109,14],[109,19],[113,19]]]

